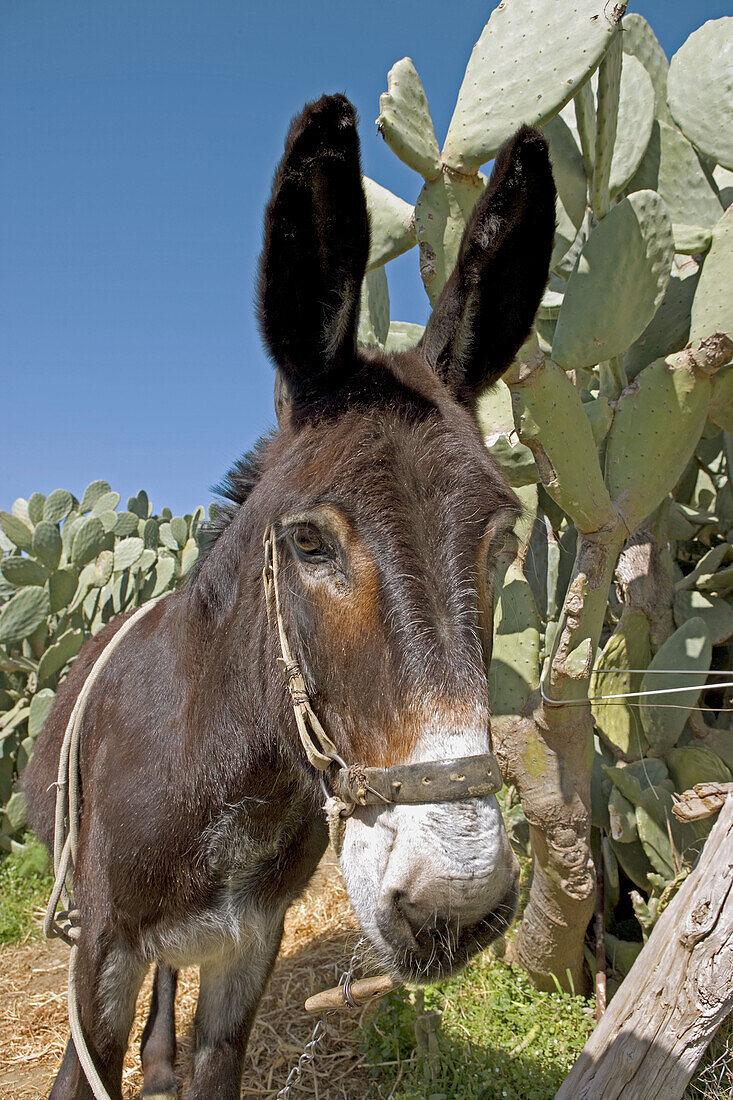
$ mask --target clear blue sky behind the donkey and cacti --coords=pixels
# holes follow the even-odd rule
[[[561,9],[564,0],[557,0]],[[253,320],[262,210],[288,121],[343,91],[366,175],[414,201],[375,135],[409,55],[441,141],[493,3],[6,0],[0,7],[0,508],[106,477],[208,503],[273,424]],[[668,55],[727,0],[634,0]],[[392,316],[424,321],[415,251]]]

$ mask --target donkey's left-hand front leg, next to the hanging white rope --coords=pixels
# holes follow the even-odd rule
[[[79,947],[76,999],[81,1030],[111,1100],[122,1100],[122,1060],[146,969],[128,946],[110,945],[102,937]],[[50,1100],[94,1100],[70,1038]]]

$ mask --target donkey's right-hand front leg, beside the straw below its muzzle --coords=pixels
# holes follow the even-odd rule
[[[242,950],[201,967],[187,1100],[239,1100],[247,1041],[283,937],[283,914],[255,931]]]

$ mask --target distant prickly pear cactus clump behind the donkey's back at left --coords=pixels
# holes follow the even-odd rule
[[[0,848],[25,827],[17,780],[56,689],[84,642],[114,615],[175,588],[198,557],[204,509],[154,516],[147,494],[106,481],[0,512]]]

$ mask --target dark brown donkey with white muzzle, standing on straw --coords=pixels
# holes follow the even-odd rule
[[[369,222],[354,110],[325,96],[294,119],[259,277],[278,428],[228,474],[195,574],[122,640],[84,717],[77,997],[111,1097],[152,963],[143,1094],[175,1094],[176,970],[197,964],[187,1094],[239,1097],[285,911],[327,845],[320,778],[275,667],[265,530],[282,619],[346,760],[489,750],[492,578],[519,504],[482,443],[474,399],[530,330],[554,230],[547,145],[525,128],[496,158],[419,344],[358,348]],[[120,622],[79,653],[26,769],[47,844],[64,728]],[[358,809],[340,864],[400,980],[453,972],[515,910],[517,866],[493,796]],[[70,1040],[51,1096],[91,1096]]]

